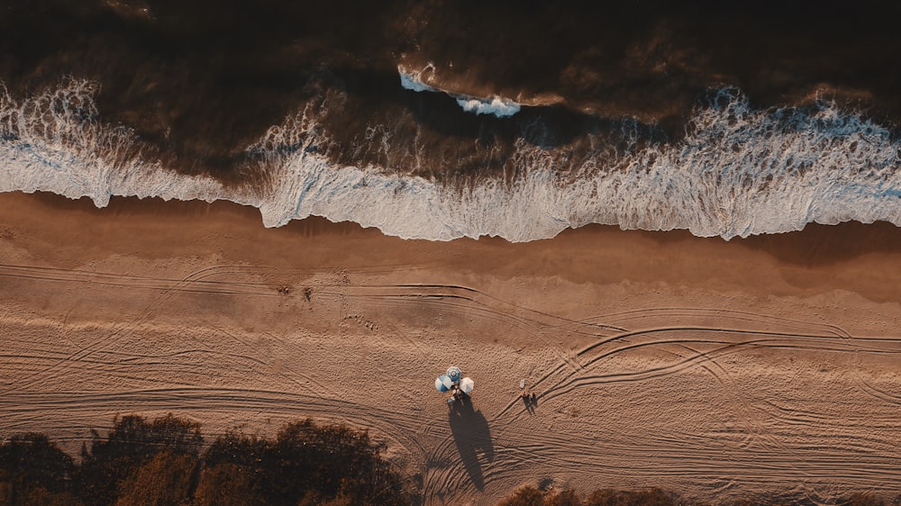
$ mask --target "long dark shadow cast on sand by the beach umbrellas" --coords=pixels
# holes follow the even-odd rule
[[[478,462],[478,454],[485,456],[488,462],[495,459],[495,447],[491,443],[491,429],[482,411],[473,409],[472,399],[464,397],[454,402],[448,410],[451,421],[451,432],[454,443],[460,451],[460,460],[466,467],[469,479],[478,490],[485,486],[482,465]]]

